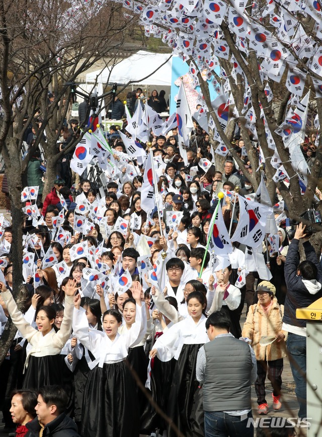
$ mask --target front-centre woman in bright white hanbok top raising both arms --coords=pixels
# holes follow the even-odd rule
[[[122,316],[115,309],[104,313],[103,332],[89,330],[85,310],[80,309],[81,297],[74,300],[74,334],[99,360],[99,365],[89,373],[84,391],[84,437],[139,436],[138,398],[126,357],[128,349],[141,341],[141,333],[146,329],[145,304],[141,304],[140,295],[140,288],[133,287],[135,323],[125,335],[118,333]]]

